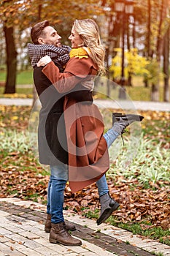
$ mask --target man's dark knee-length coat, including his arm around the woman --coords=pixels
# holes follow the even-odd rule
[[[60,72],[63,68],[57,64]],[[42,67],[34,67],[34,84],[42,108],[39,113],[39,162],[44,165],[68,163],[66,128],[63,117],[64,94],[58,93],[50,80],[42,73]],[[66,94],[65,94],[66,95]],[[93,102],[92,93],[81,85],[67,94],[77,102]],[[59,123],[58,123],[59,121]]]

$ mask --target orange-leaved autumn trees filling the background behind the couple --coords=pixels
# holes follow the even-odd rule
[[[159,100],[159,74],[163,72],[163,100],[169,102],[170,0],[134,1],[134,12],[125,15],[124,26],[122,13],[115,10],[114,0],[1,0],[0,67],[7,70],[4,93],[15,93],[17,71],[29,65],[26,45],[31,42],[31,26],[48,19],[57,27],[62,43],[69,44],[75,18],[93,18],[98,23],[106,47],[108,70],[110,60],[117,54],[115,49],[122,48],[124,28],[125,50],[137,49],[139,56],[150,63],[147,69],[152,79],[146,75],[144,86],[151,83],[151,100]],[[112,70],[114,78],[114,67]],[[129,85],[132,75],[133,72],[128,72]]]

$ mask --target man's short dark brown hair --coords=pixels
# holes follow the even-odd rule
[[[39,45],[38,39],[39,37],[45,36],[45,27],[50,26],[49,20],[44,20],[42,22],[36,23],[34,27],[31,29],[31,39],[35,45]]]

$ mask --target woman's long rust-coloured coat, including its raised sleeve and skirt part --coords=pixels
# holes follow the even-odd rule
[[[90,80],[91,75],[96,75],[97,68],[89,58],[72,58],[63,74],[53,62],[42,72],[58,92],[63,93],[74,89],[82,80]],[[107,142],[103,137],[104,122],[98,107],[92,102],[76,102],[65,97],[63,110],[69,152],[69,186],[72,192],[77,192],[97,181],[109,169]]]

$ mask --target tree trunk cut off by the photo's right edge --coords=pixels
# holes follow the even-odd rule
[[[166,31],[164,37],[164,48],[163,48],[163,72],[166,75],[164,78],[164,90],[163,90],[163,101],[169,102],[169,37],[170,28]]]

